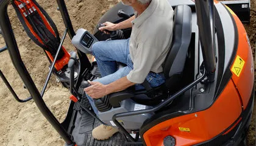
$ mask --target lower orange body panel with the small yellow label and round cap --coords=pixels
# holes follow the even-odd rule
[[[152,146],[163,145],[163,139],[168,135],[176,139],[176,145],[198,144],[226,130],[238,119],[241,112],[240,97],[230,80],[210,108],[159,123],[146,131],[143,138],[146,145]],[[189,128],[190,131],[180,131],[179,127]]]

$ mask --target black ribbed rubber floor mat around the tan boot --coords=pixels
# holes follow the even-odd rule
[[[91,131],[100,124],[98,120],[94,119],[86,111],[77,111],[76,122],[74,122],[74,130],[72,132],[77,146],[135,146],[127,145],[126,138],[121,133],[116,133],[113,137],[105,141],[93,139]]]

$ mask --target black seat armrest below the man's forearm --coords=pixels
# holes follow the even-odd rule
[[[114,108],[118,108],[121,106],[121,101],[134,97],[134,89],[129,88],[123,91],[114,92],[109,94],[108,97],[110,105],[112,105]]]

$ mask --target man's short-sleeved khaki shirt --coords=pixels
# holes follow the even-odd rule
[[[163,72],[172,41],[173,15],[167,0],[152,0],[148,8],[132,21],[130,58],[133,70],[127,79],[143,83],[150,71]]]

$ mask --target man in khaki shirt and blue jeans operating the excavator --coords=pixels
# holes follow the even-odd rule
[[[97,60],[102,78],[90,82],[85,88],[94,112],[98,110],[92,99],[99,99],[112,92],[122,91],[135,85],[143,89],[141,83],[148,80],[152,87],[165,83],[162,64],[171,46],[173,15],[167,0],[122,0],[135,10],[135,16],[119,24],[106,22],[99,30],[119,30],[132,27],[127,40],[100,41],[93,45],[93,55]],[[117,70],[116,61],[127,64]],[[100,125],[94,128],[94,139],[104,140],[113,136],[118,129]]]

